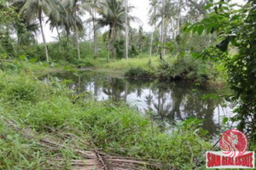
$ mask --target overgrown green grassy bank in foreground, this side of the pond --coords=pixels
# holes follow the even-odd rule
[[[179,169],[192,169],[200,161],[207,142],[196,131],[196,121],[183,122],[172,135],[152,127],[151,121],[125,104],[96,102],[90,94],[77,96],[59,82],[39,82],[34,72],[42,65],[20,65],[0,71],[0,168],[43,168],[61,158],[65,168],[71,160],[83,159],[73,150],[89,150],[93,142],[99,150],[134,158],[156,159]],[[5,67],[8,68],[8,67]],[[27,139],[10,127],[29,127],[37,139]],[[44,135],[62,137],[61,150],[49,150],[38,144]],[[72,134],[76,138],[67,138]],[[191,157],[192,156],[192,157]],[[192,159],[192,160],[191,160]],[[49,166],[49,165],[48,165]],[[64,167],[62,167],[64,168]]]

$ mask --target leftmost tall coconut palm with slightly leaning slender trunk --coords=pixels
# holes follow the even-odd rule
[[[20,8],[20,14],[24,19],[30,23],[32,20],[39,20],[41,34],[44,42],[44,50],[46,61],[49,62],[49,54],[44,36],[43,20],[44,14],[49,14],[51,11],[56,10],[55,0],[24,0],[24,5]]]

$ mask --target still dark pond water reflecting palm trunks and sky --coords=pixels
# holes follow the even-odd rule
[[[212,137],[218,136],[223,118],[232,115],[232,105],[220,97],[222,90],[199,88],[192,82],[134,81],[91,71],[51,76],[69,80],[68,87],[78,94],[87,91],[98,100],[125,101],[142,114],[150,114],[163,129],[192,116],[203,120],[202,127]]]

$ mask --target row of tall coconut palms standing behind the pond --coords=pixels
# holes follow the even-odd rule
[[[207,14],[206,0],[199,3],[193,0],[150,0],[148,23],[152,26],[149,44],[149,55],[166,54],[166,42],[175,40],[186,22],[195,22]],[[1,1],[1,6],[12,9],[19,17],[19,22],[2,26],[4,29],[15,30],[18,43],[29,40],[36,42],[36,37],[41,34],[44,42],[46,61],[49,62],[47,40],[45,37],[44,23],[49,23],[51,31],[55,30],[61,42],[61,32],[65,32],[67,46],[71,45],[70,36],[75,37],[78,59],[80,54],[80,34],[92,24],[94,57],[98,56],[98,32],[106,34],[108,49],[107,60],[110,54],[116,58],[115,43],[122,35],[125,38],[125,59],[129,58],[132,39],[131,22],[137,22],[140,27],[137,32],[139,51],[143,51],[143,38],[145,32],[140,20],[131,15],[135,7],[129,5],[129,0],[9,0]],[[84,20],[84,18],[89,18]],[[159,29],[160,28],[160,29]],[[90,29],[90,28],[89,28]],[[8,32],[6,31],[6,32]],[[177,41],[175,43],[178,43]],[[178,47],[178,44],[176,45]]]

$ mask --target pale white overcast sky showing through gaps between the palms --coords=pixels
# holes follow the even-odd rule
[[[152,28],[151,26],[148,25],[148,9],[150,8],[149,0],[128,0],[128,1],[130,5],[135,7],[132,10],[131,15],[136,16],[142,21],[141,25],[143,25],[144,31],[151,31]],[[233,1],[236,3],[244,3],[244,0],[233,0]],[[139,23],[132,23],[131,26],[138,28]],[[45,31],[45,37],[47,42],[52,42],[56,40],[56,37],[57,37],[56,32],[49,31],[48,25],[44,27],[44,31]],[[42,37],[39,36],[38,40],[39,42],[42,42]]]

